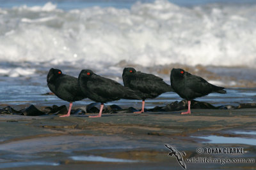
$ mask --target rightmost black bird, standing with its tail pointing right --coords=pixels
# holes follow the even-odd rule
[[[208,83],[204,78],[190,74],[184,69],[172,69],[170,76],[173,90],[179,94],[183,99],[188,100],[188,111],[181,114],[191,114],[190,104],[191,100],[196,97],[202,97],[212,92],[226,94],[224,87],[218,87]]]

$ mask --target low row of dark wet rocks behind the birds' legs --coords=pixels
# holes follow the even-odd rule
[[[87,106],[82,106],[71,110],[71,115],[85,115],[86,113],[99,113],[99,108],[96,105],[99,103],[91,103]],[[188,101],[175,101],[173,103],[167,104],[166,106],[156,106],[152,109],[145,109],[145,112],[167,112],[167,111],[180,111],[185,110],[188,107]],[[201,102],[201,101],[191,101],[191,108],[193,109],[216,109],[216,110],[231,110],[231,109],[242,109],[242,108],[256,108],[256,103],[241,103],[239,106],[232,105],[221,105],[221,106],[212,106],[212,104]],[[102,113],[134,113],[137,110],[136,108],[121,108],[120,106],[113,104],[108,107],[105,107]],[[21,110],[15,110],[11,106],[6,106],[0,108],[0,114],[2,115],[26,115],[26,116],[40,116],[40,115],[64,115],[67,114],[67,106],[47,106],[39,110],[33,104],[28,108]]]

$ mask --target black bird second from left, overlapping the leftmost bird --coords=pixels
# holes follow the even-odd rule
[[[101,117],[104,103],[108,101],[141,99],[131,89],[114,80],[99,76],[90,69],[83,69],[79,74],[78,81],[81,90],[89,99],[101,103],[99,115],[92,117]]]

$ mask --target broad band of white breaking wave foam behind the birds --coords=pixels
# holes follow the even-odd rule
[[[131,9],[64,11],[52,3],[0,9],[0,61],[99,69],[120,60],[255,67],[255,10],[243,4],[186,8],[168,1]]]

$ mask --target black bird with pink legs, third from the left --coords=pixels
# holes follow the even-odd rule
[[[124,86],[134,90],[142,99],[141,111],[135,113],[144,112],[145,99],[154,99],[165,92],[173,92],[172,87],[162,78],[154,74],[141,73],[132,67],[125,67],[122,76]]]

